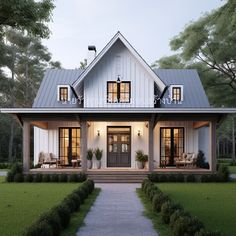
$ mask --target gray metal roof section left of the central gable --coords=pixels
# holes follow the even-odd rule
[[[72,85],[83,72],[81,69],[48,69],[40,85],[38,94],[34,100],[33,108],[73,108],[80,107],[78,103],[73,104],[75,95],[71,90],[71,102],[61,103],[57,101],[57,86]]]

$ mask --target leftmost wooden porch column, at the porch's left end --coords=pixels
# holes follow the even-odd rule
[[[30,122],[23,123],[23,171],[24,173],[30,170]]]

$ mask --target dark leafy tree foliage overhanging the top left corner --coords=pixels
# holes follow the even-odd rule
[[[2,0],[0,2],[0,31],[12,27],[26,30],[29,34],[47,38],[50,34],[46,25],[51,20],[53,0]]]

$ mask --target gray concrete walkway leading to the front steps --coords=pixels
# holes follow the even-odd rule
[[[140,184],[96,184],[102,189],[77,236],[157,236],[136,195]]]

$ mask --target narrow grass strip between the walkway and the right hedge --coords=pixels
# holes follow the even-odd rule
[[[152,210],[152,204],[150,200],[146,197],[145,193],[141,189],[136,190],[137,195],[141,199],[141,202],[144,206],[144,216],[149,218],[152,221],[154,229],[160,236],[172,236],[173,233],[171,232],[168,225],[165,225],[161,221],[161,215],[155,213]]]

